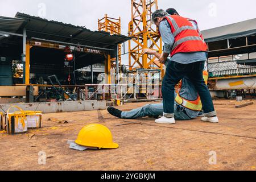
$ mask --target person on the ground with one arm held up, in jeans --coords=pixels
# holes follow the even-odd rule
[[[160,53],[152,49],[144,49],[143,54],[147,53],[148,55],[154,55],[157,58],[160,57]],[[170,60],[168,59],[165,65],[168,65]],[[208,72],[204,71],[204,80],[207,83]],[[199,115],[204,114],[201,110],[203,108],[199,93],[196,91],[195,85],[189,80],[188,77],[184,77],[180,81],[178,88],[175,93],[175,119],[177,120],[190,120],[198,117]],[[136,119],[143,117],[155,117],[163,115],[163,103],[161,104],[148,104],[138,109],[131,111],[121,111],[115,109],[114,107],[108,107],[110,114],[118,118],[123,119]]]

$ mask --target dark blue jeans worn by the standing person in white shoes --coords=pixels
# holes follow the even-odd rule
[[[198,61],[191,64],[180,64],[175,61],[170,61],[166,68],[166,75],[164,76],[162,83],[164,115],[166,117],[174,117],[175,115],[175,85],[185,76],[187,76],[195,85],[203,104],[205,116],[212,117],[217,115],[214,110],[210,91],[203,78],[204,64],[205,61]]]

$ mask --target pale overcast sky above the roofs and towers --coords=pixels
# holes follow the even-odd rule
[[[256,18],[255,0],[158,0],[159,9],[174,7],[182,16],[196,19],[201,30]],[[16,12],[42,16],[42,3],[48,20],[85,26],[97,30],[98,18],[105,14],[121,16],[122,34],[127,35],[131,19],[130,0],[0,0],[0,16],[14,17]]]

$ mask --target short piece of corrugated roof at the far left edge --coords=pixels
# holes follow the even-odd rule
[[[26,22],[26,19],[0,16],[0,31],[16,33]]]

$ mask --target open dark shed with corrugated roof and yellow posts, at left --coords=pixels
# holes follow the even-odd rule
[[[102,69],[102,65],[108,76],[106,83],[110,84],[110,60],[117,57],[118,44],[130,39],[22,13],[17,13],[15,18],[1,16],[0,35],[0,97],[26,96],[22,85],[51,85],[48,79],[51,75],[56,75],[61,85],[71,88],[97,83],[93,78],[100,72],[93,73],[93,68]],[[71,52],[75,58],[65,65],[64,58]],[[14,63],[19,63],[16,70],[12,70]],[[23,65],[23,72],[20,64]],[[87,75],[81,76],[81,72],[77,72],[88,71],[88,66],[91,70],[85,72]],[[13,76],[16,78],[13,79]],[[12,87],[6,92],[6,87],[2,86]],[[17,90],[23,94],[20,95]]]

